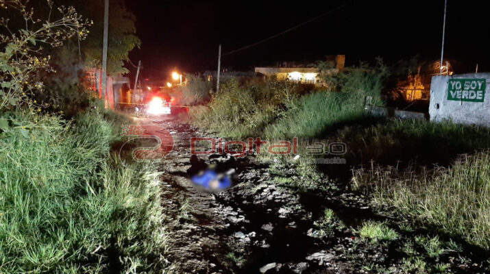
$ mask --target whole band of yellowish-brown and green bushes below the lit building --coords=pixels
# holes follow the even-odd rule
[[[336,76],[326,75],[332,84],[328,89],[335,91],[312,92],[289,82],[231,79],[207,106],[191,109],[191,119],[230,138],[315,138],[335,126],[362,119],[367,96],[372,103],[382,104],[386,76],[381,63],[375,68],[363,64]]]

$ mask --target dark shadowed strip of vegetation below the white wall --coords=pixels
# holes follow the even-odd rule
[[[351,165],[377,164],[398,166],[400,162],[450,164],[458,154],[490,148],[490,129],[450,122],[385,120],[347,125],[330,138],[345,142]]]

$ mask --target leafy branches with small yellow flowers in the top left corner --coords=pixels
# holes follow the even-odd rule
[[[5,51],[0,52],[0,110],[36,105],[29,96],[44,90],[37,73],[50,70],[51,56],[45,54],[44,47],[59,47],[75,35],[84,40],[86,27],[91,25],[72,7],[53,9],[53,3],[48,1],[49,15],[34,18],[34,9],[26,4],[20,0],[2,1],[2,12],[7,12],[8,17],[0,21],[0,27],[8,29],[8,35],[0,36],[0,44],[5,46]],[[17,22],[12,24],[17,26],[8,26],[10,21]],[[21,27],[19,21],[23,22]]]

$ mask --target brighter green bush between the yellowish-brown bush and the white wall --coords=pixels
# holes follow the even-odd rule
[[[345,69],[324,74],[329,90],[315,92],[295,101],[284,118],[265,129],[267,138],[321,137],[337,125],[363,119],[366,97],[373,105],[382,105],[381,91],[387,68],[380,62],[370,69]]]

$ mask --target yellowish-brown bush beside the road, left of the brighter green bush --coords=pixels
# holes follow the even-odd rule
[[[298,92],[297,86],[284,82],[240,84],[238,79],[231,79],[212,95],[208,106],[191,108],[191,119],[199,127],[230,138],[258,135],[291,105]]]

